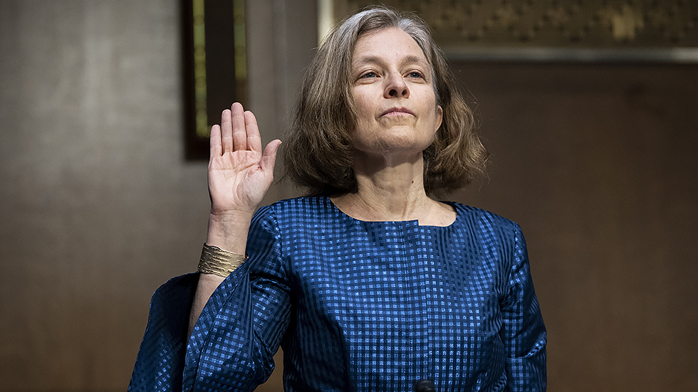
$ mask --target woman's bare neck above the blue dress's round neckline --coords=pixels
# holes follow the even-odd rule
[[[424,191],[422,153],[401,161],[357,157],[354,172],[358,190],[332,198],[341,211],[362,221],[412,221],[448,226],[453,208],[434,201]]]

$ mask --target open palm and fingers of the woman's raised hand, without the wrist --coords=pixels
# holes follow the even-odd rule
[[[209,194],[214,214],[254,211],[274,179],[278,142],[264,152],[256,120],[242,105],[225,110],[211,130]]]

